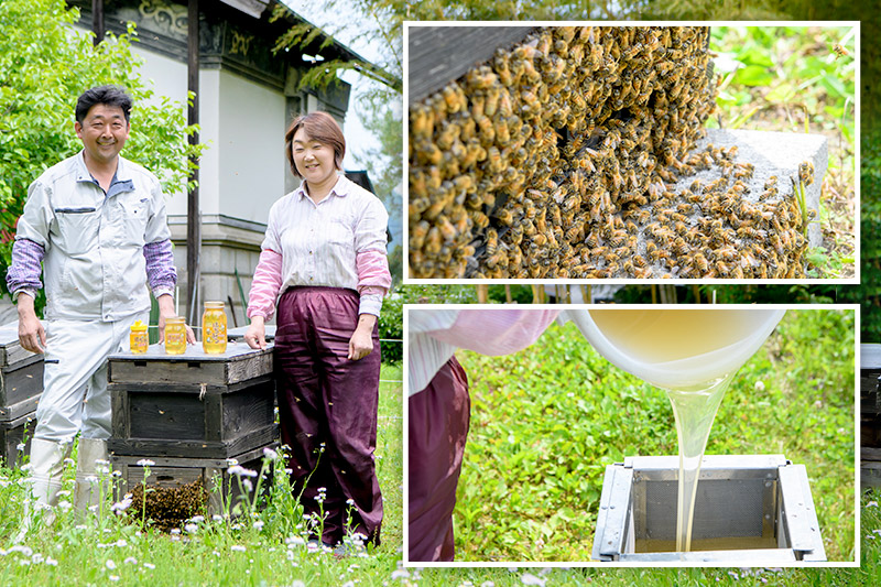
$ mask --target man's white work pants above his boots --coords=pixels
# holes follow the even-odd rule
[[[138,319],[146,323],[149,315],[117,322],[46,323],[46,365],[35,438],[70,442],[77,432],[83,438],[110,437],[107,357],[129,350],[129,330]]]

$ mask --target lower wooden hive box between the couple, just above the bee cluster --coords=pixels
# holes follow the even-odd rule
[[[278,449],[278,443],[272,443],[265,448]],[[232,458],[246,469],[260,474],[263,467],[263,448],[253,448]],[[150,459],[152,465],[149,466],[149,476],[145,476],[148,471],[143,459],[144,457],[118,454],[110,457],[113,470],[121,474],[119,498],[143,482],[146,482],[148,489],[151,487],[176,489],[199,480],[208,491],[207,514],[214,515],[225,512],[224,500],[229,500],[229,511],[232,513],[235,506],[246,493],[250,502],[253,502],[255,497],[258,479],[250,478],[252,488],[248,491],[244,485],[239,483],[236,475],[229,474],[229,468],[232,466],[230,459],[155,457]],[[261,493],[264,494],[271,485],[273,474],[271,466],[267,467],[265,474],[267,477],[260,483]],[[217,487],[217,481],[221,482],[221,487]]]

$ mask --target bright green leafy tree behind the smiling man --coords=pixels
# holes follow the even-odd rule
[[[28,186],[44,170],[77,153],[76,98],[104,84],[126,88],[134,100],[131,138],[123,155],[155,173],[166,193],[185,193],[189,156],[184,105],[157,99],[141,80],[132,53],[134,25],[97,47],[73,29],[79,10],[64,0],[0,2],[0,271],[6,275],[15,224]],[[6,280],[0,292],[8,293]]]

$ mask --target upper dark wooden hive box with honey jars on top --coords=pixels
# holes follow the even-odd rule
[[[276,438],[271,347],[175,356],[154,345],[111,356],[108,378],[116,455],[225,459]]]

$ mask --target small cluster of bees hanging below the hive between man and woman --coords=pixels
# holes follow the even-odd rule
[[[204,514],[207,503],[208,491],[202,478],[180,487],[148,486],[146,504],[144,487],[139,483],[131,491],[131,506],[127,511],[132,521],[140,522],[144,515],[153,528],[171,532],[173,528],[183,528],[194,515]]]

